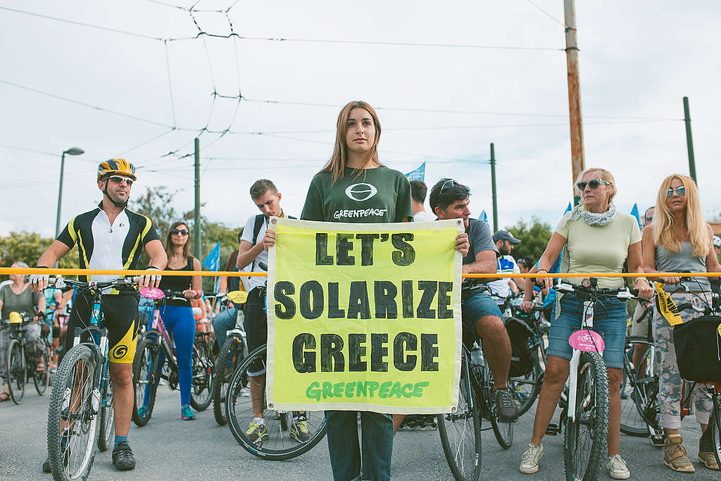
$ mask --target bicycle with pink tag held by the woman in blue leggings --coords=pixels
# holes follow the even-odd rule
[[[168,387],[178,387],[179,372],[175,358],[175,347],[165,329],[160,315],[160,306],[164,299],[187,300],[180,291],[143,288],[141,296],[154,300],[153,312],[143,334],[138,337],[138,348],[133,358],[133,423],[144,426],[153,414],[155,396],[160,379],[168,382]],[[213,353],[208,343],[209,332],[195,332],[193,343],[193,386],[190,390],[190,405],[195,410],[205,410],[211,404],[213,389]],[[160,350],[165,354],[165,362],[159,363]],[[167,366],[167,368],[166,368]]]

